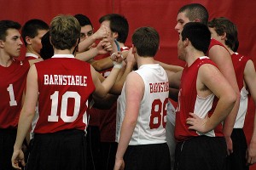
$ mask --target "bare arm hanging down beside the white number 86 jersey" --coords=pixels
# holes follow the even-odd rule
[[[137,87],[137,88],[134,88]],[[128,75],[125,83],[126,108],[125,118],[122,123],[119,145],[115,156],[114,169],[124,167],[124,154],[131,140],[132,133],[137,124],[140,102],[143,99],[144,82],[135,72]]]

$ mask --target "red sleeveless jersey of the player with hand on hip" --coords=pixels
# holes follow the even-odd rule
[[[207,114],[210,117],[218,102],[218,98],[215,97],[214,94],[210,94],[206,98],[197,95],[197,74],[201,65],[204,64],[216,66],[211,59],[201,57],[183,70],[176,112],[175,138],[177,141],[183,141],[202,134],[210,137],[223,136],[221,123],[208,133],[199,133],[195,130],[189,130],[189,125],[186,124],[186,119],[189,118],[189,112],[193,112],[201,118],[205,117]]]

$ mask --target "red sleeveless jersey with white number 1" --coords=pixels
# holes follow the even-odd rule
[[[16,59],[9,67],[0,65],[0,128],[17,127],[29,67],[27,60]]]

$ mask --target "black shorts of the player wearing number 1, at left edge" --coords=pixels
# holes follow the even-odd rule
[[[11,158],[14,152],[17,129],[0,129],[0,169],[12,168]]]

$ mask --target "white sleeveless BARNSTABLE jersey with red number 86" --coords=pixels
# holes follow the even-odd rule
[[[169,82],[166,71],[158,64],[142,65],[135,71],[142,77],[145,89],[137,118],[137,125],[129,145],[166,143],[166,112]],[[136,87],[134,87],[136,88]],[[118,99],[117,141],[125,117],[125,85]]]

